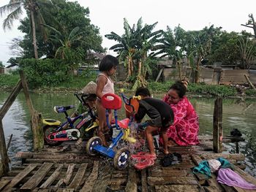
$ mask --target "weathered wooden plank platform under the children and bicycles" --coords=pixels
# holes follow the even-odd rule
[[[255,183],[238,166],[244,155],[213,153],[212,138],[200,137],[200,145],[170,147],[170,153],[181,153],[180,164],[162,167],[159,154],[156,164],[143,171],[132,166],[124,171],[113,168],[112,161],[99,155],[90,157],[75,142],[59,147],[46,147],[41,152],[18,153],[20,166],[12,166],[7,176],[1,177],[0,191],[244,191],[219,185],[214,175],[206,180],[202,174],[193,174],[192,167],[203,159],[227,158],[236,165],[236,172]],[[85,144],[83,144],[85,145]]]

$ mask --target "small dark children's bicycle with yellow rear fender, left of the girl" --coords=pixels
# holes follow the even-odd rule
[[[99,124],[96,112],[86,101],[89,95],[79,96],[76,92],[75,96],[81,104],[88,107],[89,110],[71,118],[67,114],[67,110],[73,109],[73,105],[53,107],[55,112],[64,113],[67,121],[61,123],[61,121],[53,119],[42,120],[42,123],[45,124],[45,126],[43,126],[43,131],[45,143],[47,145],[59,145],[61,142],[77,140],[80,137],[89,139],[94,136]]]

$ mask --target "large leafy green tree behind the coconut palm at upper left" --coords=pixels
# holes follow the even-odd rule
[[[84,55],[92,51],[101,53],[104,51],[101,46],[102,37],[99,35],[99,28],[91,24],[89,8],[81,7],[76,1],[51,0],[51,2],[58,9],[49,9],[48,12],[42,12],[42,17],[48,26],[54,26],[62,34],[64,31],[69,34],[73,28],[79,26],[80,31],[85,35],[81,38],[83,43],[74,45],[74,47],[79,46],[80,49],[83,49]],[[33,47],[29,44],[31,41],[31,36],[29,35],[29,18],[21,20],[20,23],[21,25],[18,29],[25,33],[21,47],[23,47],[25,53],[24,57],[30,58]],[[48,31],[48,37],[55,34],[52,30],[48,29],[46,31]],[[45,55],[47,58],[55,58],[59,43],[56,44],[56,42],[47,41],[41,31],[37,31],[37,42],[39,56]]]

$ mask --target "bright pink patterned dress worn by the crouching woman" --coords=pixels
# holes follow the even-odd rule
[[[173,125],[167,130],[168,138],[173,139],[181,146],[199,144],[198,116],[187,97],[184,96],[177,104],[170,104],[167,96],[163,100],[170,105],[174,114]],[[162,143],[162,138],[160,138],[160,142]]]

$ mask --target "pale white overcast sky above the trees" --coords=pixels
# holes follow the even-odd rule
[[[1,0],[0,7],[10,0]],[[102,35],[102,47],[111,47],[116,42],[104,37],[111,31],[124,34],[124,18],[130,26],[137,23],[140,17],[143,23],[158,22],[157,29],[174,28],[181,25],[185,30],[200,30],[205,26],[222,26],[225,31],[250,31],[241,24],[246,23],[250,13],[255,15],[256,0],[78,0],[83,7],[89,7],[91,23],[99,27]],[[23,15],[23,18],[26,15]],[[0,18],[2,25],[6,15]],[[22,37],[18,31],[19,21],[14,23],[12,30],[4,31],[0,27],[0,61],[4,64],[11,55],[8,43],[15,37]],[[113,54],[112,52],[109,52]]]

